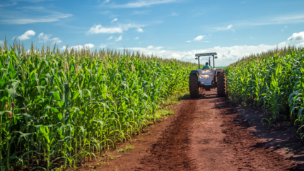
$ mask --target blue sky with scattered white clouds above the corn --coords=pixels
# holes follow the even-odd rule
[[[191,62],[217,52],[216,66],[227,66],[276,47],[304,47],[304,1],[1,0],[0,45],[5,36],[27,49],[56,42],[62,50],[127,48]]]

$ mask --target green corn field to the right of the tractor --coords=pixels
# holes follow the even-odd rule
[[[252,54],[228,66],[226,74],[231,100],[262,106],[269,116],[263,122],[266,120],[269,125],[279,119],[291,119],[299,126],[298,131],[302,130],[304,49],[290,46]]]

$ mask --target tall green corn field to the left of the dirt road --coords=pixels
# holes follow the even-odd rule
[[[5,41],[1,170],[71,168],[129,141],[161,117],[156,113],[168,95],[187,89],[194,66],[127,50],[60,52],[32,43],[26,51]]]

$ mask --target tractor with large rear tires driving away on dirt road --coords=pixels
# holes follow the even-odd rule
[[[217,59],[214,53],[205,53],[205,54],[195,54],[195,59],[199,57],[211,56],[213,59]],[[210,65],[210,57],[209,57],[209,65]],[[209,75],[208,75],[209,74]],[[203,78],[208,78],[208,81]],[[196,98],[199,96],[199,88],[209,91],[211,88],[217,88],[217,96],[224,97],[227,95],[226,90],[226,74],[223,69],[214,69],[211,71],[203,71],[200,68],[197,70],[192,70],[189,74],[189,92],[191,98]]]

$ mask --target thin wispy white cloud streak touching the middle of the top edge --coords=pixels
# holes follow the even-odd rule
[[[116,5],[112,4],[110,6],[107,6],[108,8],[141,8],[144,6],[153,6],[156,4],[170,4],[177,2],[177,0],[137,0],[135,2],[129,2],[128,4],[122,4],[122,5]]]

